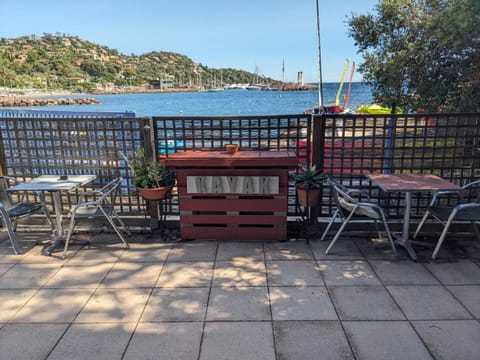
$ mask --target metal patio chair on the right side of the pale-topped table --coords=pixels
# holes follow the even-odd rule
[[[70,226],[68,228],[67,238],[65,239],[65,248],[63,250],[64,258],[67,256],[68,245],[70,244],[75,226],[81,220],[106,219],[120,240],[125,244],[125,248],[128,249],[130,247],[120,230],[123,230],[128,236],[130,236],[131,233],[115,211],[115,199],[122,181],[123,178],[118,177],[101,189],[86,191],[80,196],[78,204],[72,208],[69,214]],[[115,220],[119,226],[115,223]]]

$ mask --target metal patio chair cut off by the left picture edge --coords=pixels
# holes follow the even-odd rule
[[[8,237],[12,243],[13,252],[20,254],[20,248],[18,245],[17,231],[18,220],[26,216],[30,216],[37,212],[43,212],[47,221],[52,229],[55,230],[52,218],[45,205],[45,198],[42,192],[36,193],[40,198],[40,203],[24,202],[25,193],[21,194],[20,201],[13,201],[8,189],[12,185],[18,184],[19,181],[10,176],[0,176],[0,217],[2,218],[2,225],[7,229]]]

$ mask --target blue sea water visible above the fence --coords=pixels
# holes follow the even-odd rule
[[[326,106],[335,105],[339,83],[324,83],[322,88],[323,104]],[[348,103],[345,104],[347,91],[348,84],[345,84],[339,96],[339,105],[342,107],[355,110],[361,105],[372,103],[371,87],[368,84],[352,83]],[[36,106],[23,109],[82,112],[133,111],[139,117],[290,115],[301,114],[305,110],[318,107],[318,94],[318,90],[260,91],[241,89],[216,92],[81,94],[68,97],[95,98],[100,104]]]

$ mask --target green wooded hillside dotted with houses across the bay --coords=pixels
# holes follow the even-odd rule
[[[135,90],[148,88],[150,81],[167,80],[181,89],[208,87],[214,80],[217,85],[250,83],[253,78],[254,74],[247,71],[208,68],[173,52],[124,55],[76,36],[0,39],[0,87]],[[269,78],[265,81],[276,83]]]

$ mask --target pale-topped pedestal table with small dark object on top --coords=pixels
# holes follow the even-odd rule
[[[41,175],[34,179],[12,186],[9,191],[45,191],[50,192],[53,198],[53,209],[56,219],[56,236],[52,245],[47,249],[51,255],[53,250],[63,240],[62,226],[62,191],[72,191],[91,183],[97,177],[95,175],[68,175],[68,178],[60,178],[59,175]]]

